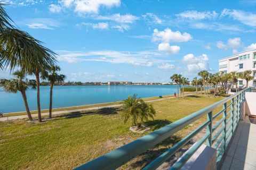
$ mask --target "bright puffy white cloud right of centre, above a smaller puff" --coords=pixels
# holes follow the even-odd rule
[[[185,42],[191,40],[192,37],[189,33],[180,31],[172,31],[169,28],[166,28],[164,31],[158,31],[154,29],[153,41],[162,41],[164,43],[170,42]]]

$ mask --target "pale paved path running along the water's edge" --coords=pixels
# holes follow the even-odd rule
[[[185,96],[190,96],[193,94],[187,94]],[[166,97],[166,98],[160,98],[155,100],[148,100],[146,102],[153,102],[153,101],[159,101],[159,100],[166,100],[166,99],[172,99],[174,97]],[[73,109],[73,110],[66,110],[66,111],[55,111],[52,112],[52,115],[58,115],[58,114],[65,114],[65,113],[71,113],[71,112],[82,112],[82,111],[92,111],[96,109],[102,109],[102,108],[110,108],[110,107],[120,107],[121,104],[117,105],[107,105],[107,106],[99,106],[99,107],[88,107],[88,108],[79,108],[79,109]],[[37,114],[31,114],[33,118],[37,117]],[[42,116],[49,115],[49,112],[41,113]],[[20,116],[6,116],[6,117],[0,117],[0,121],[8,121],[8,120],[15,120],[19,118],[27,118],[27,115],[20,115]]]

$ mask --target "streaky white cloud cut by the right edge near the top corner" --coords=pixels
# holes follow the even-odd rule
[[[225,8],[221,12],[221,16],[230,16],[234,20],[238,20],[245,25],[256,26],[256,14],[251,12],[245,12],[241,10],[229,10]]]

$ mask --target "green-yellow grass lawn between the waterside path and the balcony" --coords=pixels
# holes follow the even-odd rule
[[[198,95],[154,101],[157,114],[147,124],[152,131],[157,130],[221,99]],[[130,124],[121,122],[119,112],[119,108],[104,108],[63,114],[43,123],[0,122],[0,169],[71,169],[149,133],[130,132]],[[170,147],[204,118],[179,131],[166,145],[157,146],[157,151],[151,151],[157,155],[159,150]],[[122,168],[141,169],[149,160],[145,159],[142,155]]]

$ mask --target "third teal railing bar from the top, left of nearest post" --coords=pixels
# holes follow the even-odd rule
[[[204,141],[209,137],[210,133],[206,133],[204,137],[195,144],[195,146],[189,148],[187,154],[183,155],[181,159],[170,168],[170,170],[180,169],[187,162],[187,160],[197,151],[197,149],[204,143]]]

